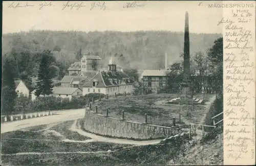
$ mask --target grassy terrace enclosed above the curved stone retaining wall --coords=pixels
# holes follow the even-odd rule
[[[206,94],[206,101],[213,95]],[[109,100],[99,101],[99,112],[105,114],[105,109],[108,107],[109,115],[121,118],[121,111],[125,112],[125,119],[135,122],[144,122],[144,115],[147,114],[147,121],[150,124],[170,126],[172,125],[172,118],[179,118],[179,105],[164,104],[167,100],[177,98],[178,94],[154,94],[147,96],[130,96],[111,98]],[[203,98],[202,94],[197,97]],[[188,106],[191,110],[191,106]],[[187,116],[186,105],[181,106],[182,122],[186,125],[190,123],[200,123],[202,118],[208,111],[208,105],[194,106],[194,111],[189,111]]]

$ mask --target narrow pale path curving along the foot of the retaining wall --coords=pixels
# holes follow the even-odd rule
[[[118,138],[108,138],[99,135],[95,135],[92,133],[88,133],[81,129],[80,124],[77,124],[77,120],[75,120],[74,124],[71,126],[71,131],[75,131],[80,135],[87,136],[92,138],[94,141],[101,141],[105,143],[115,143],[115,144],[131,144],[131,145],[153,145],[159,144],[162,139],[154,139],[154,140],[129,140],[129,139],[118,139]]]

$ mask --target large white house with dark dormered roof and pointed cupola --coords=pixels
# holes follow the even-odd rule
[[[89,93],[103,93],[109,96],[118,93],[132,93],[135,81],[121,70],[116,69],[114,57],[109,62],[109,70],[102,70],[82,86],[83,96]]]

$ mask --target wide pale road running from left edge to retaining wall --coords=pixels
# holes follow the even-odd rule
[[[53,111],[55,115],[29,118],[26,120],[6,122],[1,124],[1,133],[20,130],[27,127],[48,125],[52,123],[77,120],[84,117],[84,109],[72,109],[63,111]]]

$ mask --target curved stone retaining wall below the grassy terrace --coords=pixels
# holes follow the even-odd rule
[[[95,113],[89,107],[85,110],[83,127],[94,134],[131,139],[166,138],[180,133],[175,127],[125,121]]]

